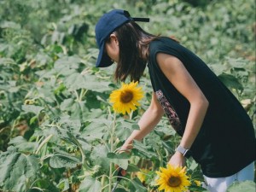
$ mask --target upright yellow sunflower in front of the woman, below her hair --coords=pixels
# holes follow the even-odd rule
[[[113,110],[118,113],[131,113],[140,106],[138,101],[143,98],[142,87],[137,87],[137,82],[130,84],[122,83],[119,90],[113,90],[109,96],[110,102],[113,103]]]

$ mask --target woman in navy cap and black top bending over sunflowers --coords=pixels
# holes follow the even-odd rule
[[[172,38],[154,36],[125,10],[114,9],[96,24],[100,49],[96,67],[117,63],[114,77],[138,81],[148,65],[152,101],[122,149],[131,148],[157,125],[164,113],[182,136],[169,163],[184,166],[192,155],[210,191],[253,180],[255,135],[251,119],[204,61]]]

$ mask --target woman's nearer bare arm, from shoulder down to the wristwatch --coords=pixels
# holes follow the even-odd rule
[[[201,129],[209,103],[195,80],[177,57],[160,53],[157,55],[157,61],[166,78],[190,103],[189,117],[180,143],[183,148],[189,149]],[[171,159],[171,161],[173,164],[183,164],[181,162],[175,163],[176,160]]]

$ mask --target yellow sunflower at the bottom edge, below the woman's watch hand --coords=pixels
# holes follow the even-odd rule
[[[189,177],[186,175],[186,167],[167,165],[167,168],[160,167],[156,172],[159,178],[156,181],[160,190],[165,192],[182,192],[189,187]]]

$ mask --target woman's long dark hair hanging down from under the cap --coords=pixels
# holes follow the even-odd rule
[[[148,44],[157,36],[145,32],[136,22],[130,21],[115,32],[119,40],[119,62],[114,79],[139,81],[148,62]]]

